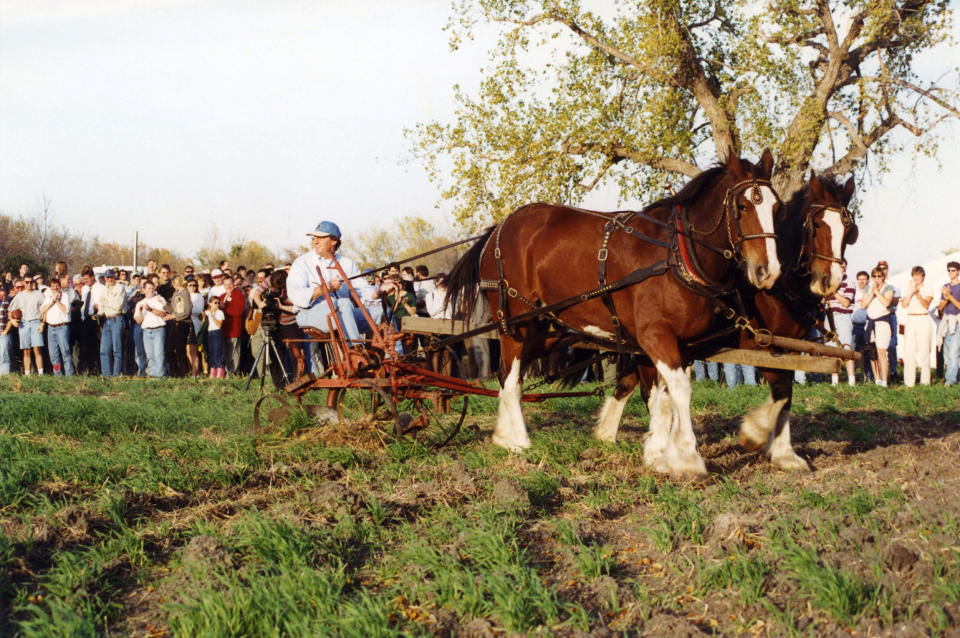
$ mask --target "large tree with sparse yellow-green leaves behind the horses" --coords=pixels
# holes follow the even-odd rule
[[[871,155],[882,167],[908,138],[935,152],[937,124],[960,116],[952,60],[939,83],[915,69],[948,35],[946,0],[587,4],[455,5],[454,47],[500,25],[491,64],[477,95],[457,88],[454,122],[410,133],[468,228],[605,183],[650,199],[664,181],[764,147],[786,198],[811,166],[844,175]]]

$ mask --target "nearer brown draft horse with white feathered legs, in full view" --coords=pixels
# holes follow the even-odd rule
[[[772,287],[780,275],[774,218],[781,203],[770,185],[772,168],[769,150],[758,164],[731,153],[675,196],[640,212],[532,204],[488,229],[447,285],[452,307],[463,304],[469,311],[480,290],[500,321],[493,442],[511,451],[529,447],[520,409],[524,369],[573,331],[649,357],[682,431],[670,469],[680,476],[704,474],[680,344],[719,320],[704,290],[729,293],[738,269],[758,289]],[[579,293],[578,302],[557,306]],[[619,379],[601,411],[598,436],[606,438],[611,424],[615,433],[637,381],[636,371]]]

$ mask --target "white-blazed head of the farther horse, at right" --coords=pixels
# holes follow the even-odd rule
[[[840,262],[859,231],[847,204],[853,196],[853,178],[843,185],[811,171],[810,181],[800,191],[803,239],[799,266],[810,274],[810,291],[828,297],[840,287]]]

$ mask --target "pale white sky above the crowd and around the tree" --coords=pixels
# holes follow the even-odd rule
[[[448,225],[403,131],[451,121],[492,30],[451,52],[446,0],[0,0],[0,212],[46,199],[74,232],[192,254],[345,240],[416,215]],[[955,27],[956,32],[956,27]],[[960,59],[956,45],[921,61]],[[939,161],[864,173],[854,269],[960,246],[960,126]],[[610,189],[599,210],[641,206]]]

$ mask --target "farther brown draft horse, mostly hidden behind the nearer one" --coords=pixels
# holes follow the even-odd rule
[[[857,226],[846,208],[853,190],[853,178],[841,186],[811,173],[810,181],[787,202],[786,214],[776,225],[783,268],[780,279],[769,290],[750,292],[742,287],[753,330],[800,339],[813,328],[822,327],[823,298],[840,287],[840,261],[846,246],[857,240]],[[738,341],[741,348],[759,348],[751,330],[739,331]],[[760,368],[760,373],[770,384],[771,395],[744,417],[738,437],[740,446],[747,450],[764,449],[771,463],[781,469],[809,470],[810,466],[794,452],[790,442],[793,371]],[[640,377],[641,392],[650,411],[644,462],[657,471],[667,472],[665,450],[679,427],[666,397],[669,390],[662,380],[657,381],[649,366],[641,366]]]

